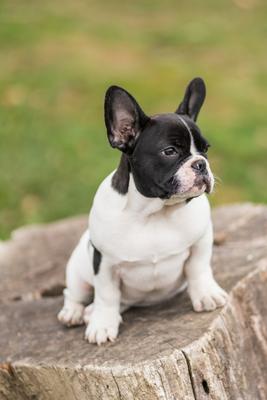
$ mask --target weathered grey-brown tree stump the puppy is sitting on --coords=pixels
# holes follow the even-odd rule
[[[183,293],[131,309],[101,347],[56,319],[87,218],[15,231],[0,245],[0,399],[266,400],[267,207],[221,207],[213,219],[228,304],[198,314]]]

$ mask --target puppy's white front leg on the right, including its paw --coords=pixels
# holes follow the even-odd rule
[[[212,311],[222,307],[227,293],[215,281],[211,269],[212,225],[202,238],[192,246],[191,255],[185,265],[188,293],[195,311]]]

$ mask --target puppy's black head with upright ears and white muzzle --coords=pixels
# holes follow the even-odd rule
[[[195,78],[175,113],[149,117],[126,90],[117,86],[107,90],[108,139],[123,152],[119,174],[113,180],[118,191],[126,193],[129,172],[146,197],[188,200],[212,191],[209,144],[196,125],[205,95],[203,80]],[[119,182],[122,179],[124,184]]]

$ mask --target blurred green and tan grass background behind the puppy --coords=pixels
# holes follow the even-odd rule
[[[119,152],[103,97],[125,87],[174,111],[195,76],[199,126],[221,179],[213,205],[267,202],[267,2],[0,1],[0,238],[87,213]]]

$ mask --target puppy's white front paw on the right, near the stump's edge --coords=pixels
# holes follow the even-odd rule
[[[188,293],[195,311],[213,311],[225,305],[228,294],[214,280],[190,283]]]

